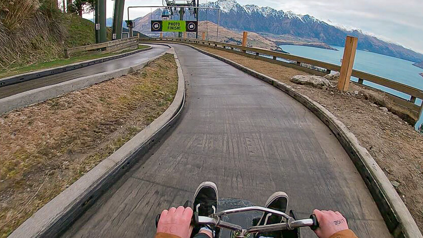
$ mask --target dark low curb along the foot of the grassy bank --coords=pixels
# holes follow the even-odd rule
[[[136,53],[139,53],[139,52],[142,52],[142,51],[151,50],[151,49],[152,49],[152,47],[148,47],[148,48],[145,48],[145,49],[134,50],[134,51],[131,51],[131,52],[126,52],[126,53],[108,56],[108,57],[104,57],[104,58],[90,59],[90,60],[86,60],[86,61],[82,61],[82,62],[78,62],[78,63],[67,64],[67,65],[58,66],[58,67],[54,67],[54,68],[50,68],[50,69],[44,69],[44,70],[28,72],[28,73],[25,73],[25,74],[6,77],[6,78],[3,78],[3,79],[0,79],[0,87],[4,87],[4,86],[16,84],[16,83],[21,83],[21,82],[25,82],[25,81],[32,80],[32,79],[38,79],[38,78],[42,78],[42,77],[46,77],[46,76],[50,76],[50,75],[60,74],[60,73],[68,72],[68,71],[72,71],[72,70],[81,69],[81,68],[86,67],[86,66],[106,62],[106,61],[113,60],[113,59],[123,58],[123,57],[128,56],[128,55],[133,55],[133,54],[136,54]]]

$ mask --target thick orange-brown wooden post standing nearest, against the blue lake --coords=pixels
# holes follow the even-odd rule
[[[347,91],[349,88],[349,80],[351,78],[358,41],[358,38],[349,36],[345,40],[344,56],[342,58],[341,72],[338,81],[338,90],[340,91]]]

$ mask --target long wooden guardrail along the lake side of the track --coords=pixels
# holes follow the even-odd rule
[[[260,58],[266,61],[275,62],[278,64],[282,64],[289,67],[295,67],[297,69],[305,70],[305,71],[312,71],[314,74],[317,75],[324,75],[324,74],[330,74],[331,71],[341,71],[341,66],[332,64],[332,63],[326,63],[314,59],[309,59],[301,56],[286,54],[282,52],[272,51],[272,50],[266,50],[266,49],[260,49],[260,48],[253,48],[253,47],[247,47],[247,46],[241,46],[241,45],[235,45],[230,43],[224,43],[224,42],[216,42],[216,41],[207,41],[207,40],[199,40],[199,39],[183,39],[183,38],[140,38],[140,42],[146,42],[146,41],[173,41],[173,42],[184,42],[184,43],[194,43],[194,44],[204,44],[205,46],[213,47],[213,48],[221,48],[226,51],[234,52],[237,54],[242,54],[248,57],[254,57],[254,58]],[[247,51],[249,53],[247,53]],[[265,57],[271,56],[272,58]],[[282,58],[285,60],[295,61],[295,63],[288,63],[283,62],[281,60],[278,60],[277,58]],[[304,64],[309,64],[312,66],[316,66],[321,68],[321,71],[310,69],[310,67],[304,66]],[[416,98],[423,99],[423,90],[420,90],[418,88],[414,88],[399,82],[395,82],[390,79],[382,78],[376,75],[372,75],[369,73],[365,73],[362,71],[353,70],[352,75],[353,77],[359,78],[359,84],[364,83],[364,81],[369,81],[387,88],[394,89],[396,91],[405,93],[410,96],[410,99],[404,99],[402,97],[398,97],[396,95],[393,95],[389,92],[387,93],[391,99],[393,99],[394,103],[408,108],[412,111],[414,111],[419,118],[422,114],[423,110],[423,103],[418,106],[415,104]],[[363,85],[366,87],[370,87],[368,85]]]

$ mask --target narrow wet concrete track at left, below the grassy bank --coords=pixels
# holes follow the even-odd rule
[[[131,67],[132,65],[139,64],[144,61],[157,56],[169,48],[164,45],[151,45],[153,48],[148,51],[143,51],[133,55],[129,55],[123,58],[114,59],[90,66],[83,67],[81,69],[68,71],[60,74],[50,75],[39,79],[33,79],[24,81],[18,84],[12,84],[5,87],[0,87],[0,98],[12,96],[21,92],[25,92],[31,89],[41,88],[48,85],[53,85],[65,81],[69,81],[76,78],[85,76],[100,74],[104,72],[111,72],[124,67]]]

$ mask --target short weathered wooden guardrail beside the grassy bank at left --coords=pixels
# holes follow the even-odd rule
[[[138,47],[138,37],[120,39],[115,41],[108,41],[99,44],[87,45],[87,46],[78,46],[74,48],[64,49],[64,57],[69,58],[72,53],[87,51],[87,50],[97,50],[104,49],[101,51],[102,54],[115,52],[123,49],[131,49]],[[135,49],[135,48],[134,48]]]

